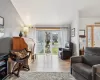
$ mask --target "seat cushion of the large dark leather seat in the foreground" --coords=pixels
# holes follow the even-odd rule
[[[72,64],[72,69],[85,77],[86,79],[91,80],[92,77],[92,67],[84,63],[74,63]]]

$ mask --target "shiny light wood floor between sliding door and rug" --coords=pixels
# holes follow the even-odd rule
[[[61,60],[58,55],[37,55],[36,60],[30,61],[30,71],[35,72],[68,72],[70,60]]]

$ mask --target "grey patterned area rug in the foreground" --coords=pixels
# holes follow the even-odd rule
[[[8,80],[76,80],[69,72],[28,72]]]

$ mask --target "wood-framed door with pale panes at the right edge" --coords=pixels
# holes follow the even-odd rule
[[[100,47],[100,25],[88,25],[86,31],[87,47]]]

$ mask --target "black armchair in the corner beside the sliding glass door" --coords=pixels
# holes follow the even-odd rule
[[[65,60],[67,58],[70,58],[72,56],[72,53],[73,53],[73,43],[67,42],[65,44],[65,48],[59,48],[58,55],[62,60]]]

